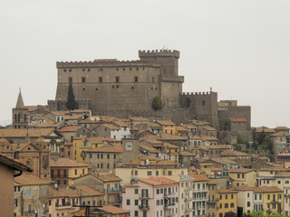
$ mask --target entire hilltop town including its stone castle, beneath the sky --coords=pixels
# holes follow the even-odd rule
[[[177,51],[139,54],[57,62],[48,105],[19,92],[0,127],[4,215],[289,216],[289,127],[252,127],[249,106],[211,89],[183,93]]]

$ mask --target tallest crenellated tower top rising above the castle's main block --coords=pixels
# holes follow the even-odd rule
[[[159,62],[165,74],[179,75],[179,51],[139,51],[139,57],[140,61]]]

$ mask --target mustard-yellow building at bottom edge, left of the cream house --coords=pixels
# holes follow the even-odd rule
[[[237,214],[237,192],[233,189],[218,190],[218,217],[224,217],[228,212]]]

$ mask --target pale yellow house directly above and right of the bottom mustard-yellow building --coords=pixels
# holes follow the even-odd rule
[[[256,171],[254,169],[230,169],[228,176],[232,179],[233,187],[238,187],[242,184],[247,184],[250,187],[256,186]]]

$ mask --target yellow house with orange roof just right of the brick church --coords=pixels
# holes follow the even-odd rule
[[[87,175],[91,165],[68,159],[58,158],[50,160],[51,179],[57,184],[71,185],[73,178]]]

